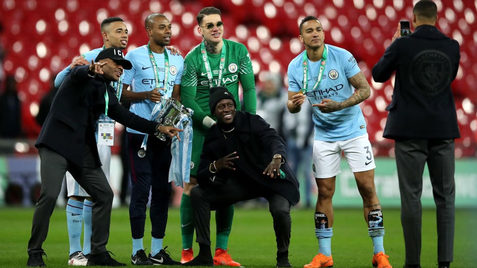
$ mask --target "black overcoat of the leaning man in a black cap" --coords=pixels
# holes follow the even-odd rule
[[[65,77],[43,124],[36,147],[46,146],[78,167],[83,166],[86,144],[98,165],[96,120],[105,113],[108,92],[108,117],[144,133],[154,133],[157,123],[141,118],[121,106],[114,88],[101,75],[87,75],[89,65],[77,66]]]

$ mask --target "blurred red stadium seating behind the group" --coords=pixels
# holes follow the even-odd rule
[[[288,63],[304,50],[298,24],[315,15],[325,42],[350,51],[371,85],[361,108],[376,157],[392,157],[393,143],[382,138],[392,79],[376,83],[371,68],[390,44],[401,20],[412,20],[412,0],[2,0],[0,6],[0,192],[6,157],[37,156],[33,146],[41,129],[42,105],[54,96],[53,80],[72,59],[103,41],[100,23],[117,16],[129,29],[127,51],[145,44],[144,19],[165,14],[173,24],[171,44],[182,55],[201,41],[195,16],[205,6],[222,11],[224,37],[239,41],[252,58],[258,113],[287,137],[297,152],[307,152],[310,124],[285,109]],[[461,60],[452,84],[461,138],[457,158],[475,158],[477,148],[477,0],[435,0],[436,26],[460,43]],[[43,101],[43,104],[42,104]],[[40,113],[39,113],[40,112]],[[117,131],[122,126],[117,125]],[[443,125],[443,128],[446,126]],[[288,139],[292,137],[291,139]],[[114,154],[120,153],[116,141]],[[311,152],[309,152],[311,156]],[[18,159],[17,159],[18,160]],[[26,168],[25,163],[18,163]],[[34,172],[33,170],[32,172]],[[312,182],[314,185],[314,182]],[[1,196],[1,195],[0,195]],[[1,197],[0,197],[1,200]],[[1,202],[0,202],[1,203]]]

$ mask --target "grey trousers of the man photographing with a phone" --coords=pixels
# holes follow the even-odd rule
[[[427,163],[437,219],[437,261],[452,262],[455,229],[454,140],[395,142],[406,265],[420,264],[422,174]]]

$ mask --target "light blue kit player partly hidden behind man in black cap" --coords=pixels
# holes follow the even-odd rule
[[[77,65],[87,65],[94,61],[99,52],[108,47],[115,47],[118,49],[125,49],[128,45],[128,28],[123,19],[118,17],[109,17],[101,22],[101,35],[103,36],[103,47],[95,48],[82,54],[79,58],[63,69],[55,79],[55,87],[60,87],[65,77]],[[118,82],[111,82],[113,88],[116,89],[116,97],[118,100],[122,93],[121,78]],[[106,116],[102,114],[99,120],[105,120]],[[95,133],[96,139],[98,132]],[[101,163],[101,168],[109,180],[109,166],[111,162],[111,148],[108,145],[98,144],[98,153]],[[69,237],[69,260],[68,265],[86,266],[87,256],[91,250],[91,211],[93,203],[89,194],[83,189],[71,176],[66,172],[66,187],[68,191],[68,203],[66,205],[66,221],[68,226]],[[85,225],[83,249],[81,248],[81,231]],[[86,257],[85,257],[86,256]]]

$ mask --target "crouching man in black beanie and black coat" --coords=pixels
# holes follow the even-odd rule
[[[223,86],[211,88],[209,106],[217,124],[207,132],[197,183],[191,192],[199,254],[186,266],[212,266],[210,212],[244,200],[269,202],[277,240],[277,267],[288,261],[290,207],[300,200],[299,183],[285,164],[285,142],[260,116],[236,110]]]

